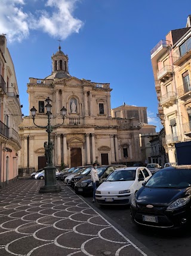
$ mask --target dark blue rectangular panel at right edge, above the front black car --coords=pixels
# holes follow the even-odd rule
[[[175,143],[177,164],[191,164],[191,141]]]

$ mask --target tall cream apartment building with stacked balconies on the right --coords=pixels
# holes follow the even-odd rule
[[[176,162],[176,143],[191,140],[191,16],[185,28],[175,29],[151,51],[158,97],[158,116],[165,128],[164,147]]]

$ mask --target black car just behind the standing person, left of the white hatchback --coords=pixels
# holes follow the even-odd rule
[[[116,170],[117,168],[127,167],[126,165],[102,165],[97,168],[98,177],[100,179],[100,184],[109,176],[112,171]],[[75,184],[75,192],[76,194],[90,194],[93,192],[93,185],[91,182],[90,173],[82,179],[80,179]]]

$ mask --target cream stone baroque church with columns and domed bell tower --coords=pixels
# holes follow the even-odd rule
[[[51,75],[44,79],[30,77],[27,93],[29,109],[35,107],[37,110],[35,124],[38,126],[47,125],[45,99],[51,99],[54,165],[62,168],[63,165],[72,167],[91,164],[94,161],[98,161],[100,165],[131,165],[141,161],[140,123],[143,119],[147,122],[146,115],[143,116],[143,107],[133,107],[137,108],[136,113],[140,114],[137,116],[112,117],[112,89],[109,83],[96,83],[72,77],[68,70],[68,56],[61,51],[61,47],[58,47],[58,52],[51,58]],[[64,124],[56,127],[63,122],[60,112],[63,106],[67,109]],[[44,143],[48,140],[48,134],[46,129],[36,127],[35,124],[30,113],[23,118],[20,125],[22,147],[19,168],[23,173],[26,170],[38,170],[46,165]],[[146,132],[155,132],[155,126],[148,125]]]

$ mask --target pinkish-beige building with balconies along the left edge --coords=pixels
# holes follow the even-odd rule
[[[16,73],[5,35],[0,35],[0,188],[18,176],[22,122]]]

